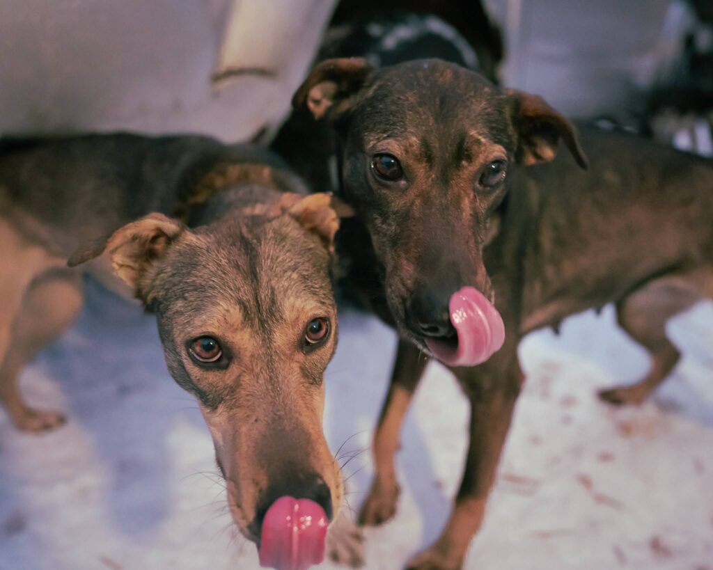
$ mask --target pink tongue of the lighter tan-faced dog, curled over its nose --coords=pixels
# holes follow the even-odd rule
[[[307,570],[324,559],[327,515],[309,499],[280,497],[267,509],[260,533],[260,565]]]

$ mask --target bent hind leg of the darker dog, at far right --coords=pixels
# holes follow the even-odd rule
[[[635,384],[602,390],[602,400],[615,405],[640,404],[676,366],[681,354],[666,336],[666,323],[700,299],[697,291],[686,285],[684,276],[664,277],[617,303],[619,325],[647,349],[651,368]]]

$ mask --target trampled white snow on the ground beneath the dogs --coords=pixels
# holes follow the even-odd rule
[[[369,445],[396,338],[344,311],[324,428],[334,450]],[[613,312],[566,321],[520,351],[527,385],[466,568],[713,569],[713,306],[671,325],[684,359],[650,403],[612,410],[597,388],[647,358]],[[68,425],[21,435],[0,415],[0,569],[257,568],[225,511],[197,406],[165,370],[152,316],[89,283],[71,331],[26,369],[32,403]],[[366,532],[369,569],[398,569],[448,514],[466,445],[466,401],[431,365],[406,423],[393,522]],[[349,503],[371,476],[347,465]],[[325,564],[324,568],[330,568]]]

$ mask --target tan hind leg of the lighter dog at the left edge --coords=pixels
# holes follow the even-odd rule
[[[35,353],[73,323],[81,301],[80,276],[68,269],[47,271],[25,292],[0,365],[0,402],[19,430],[43,432],[64,423],[61,413],[35,410],[25,403],[19,377]]]

